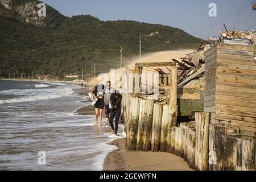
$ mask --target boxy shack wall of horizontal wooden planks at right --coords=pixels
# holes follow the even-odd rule
[[[204,112],[256,137],[256,46],[217,44],[205,52]]]

